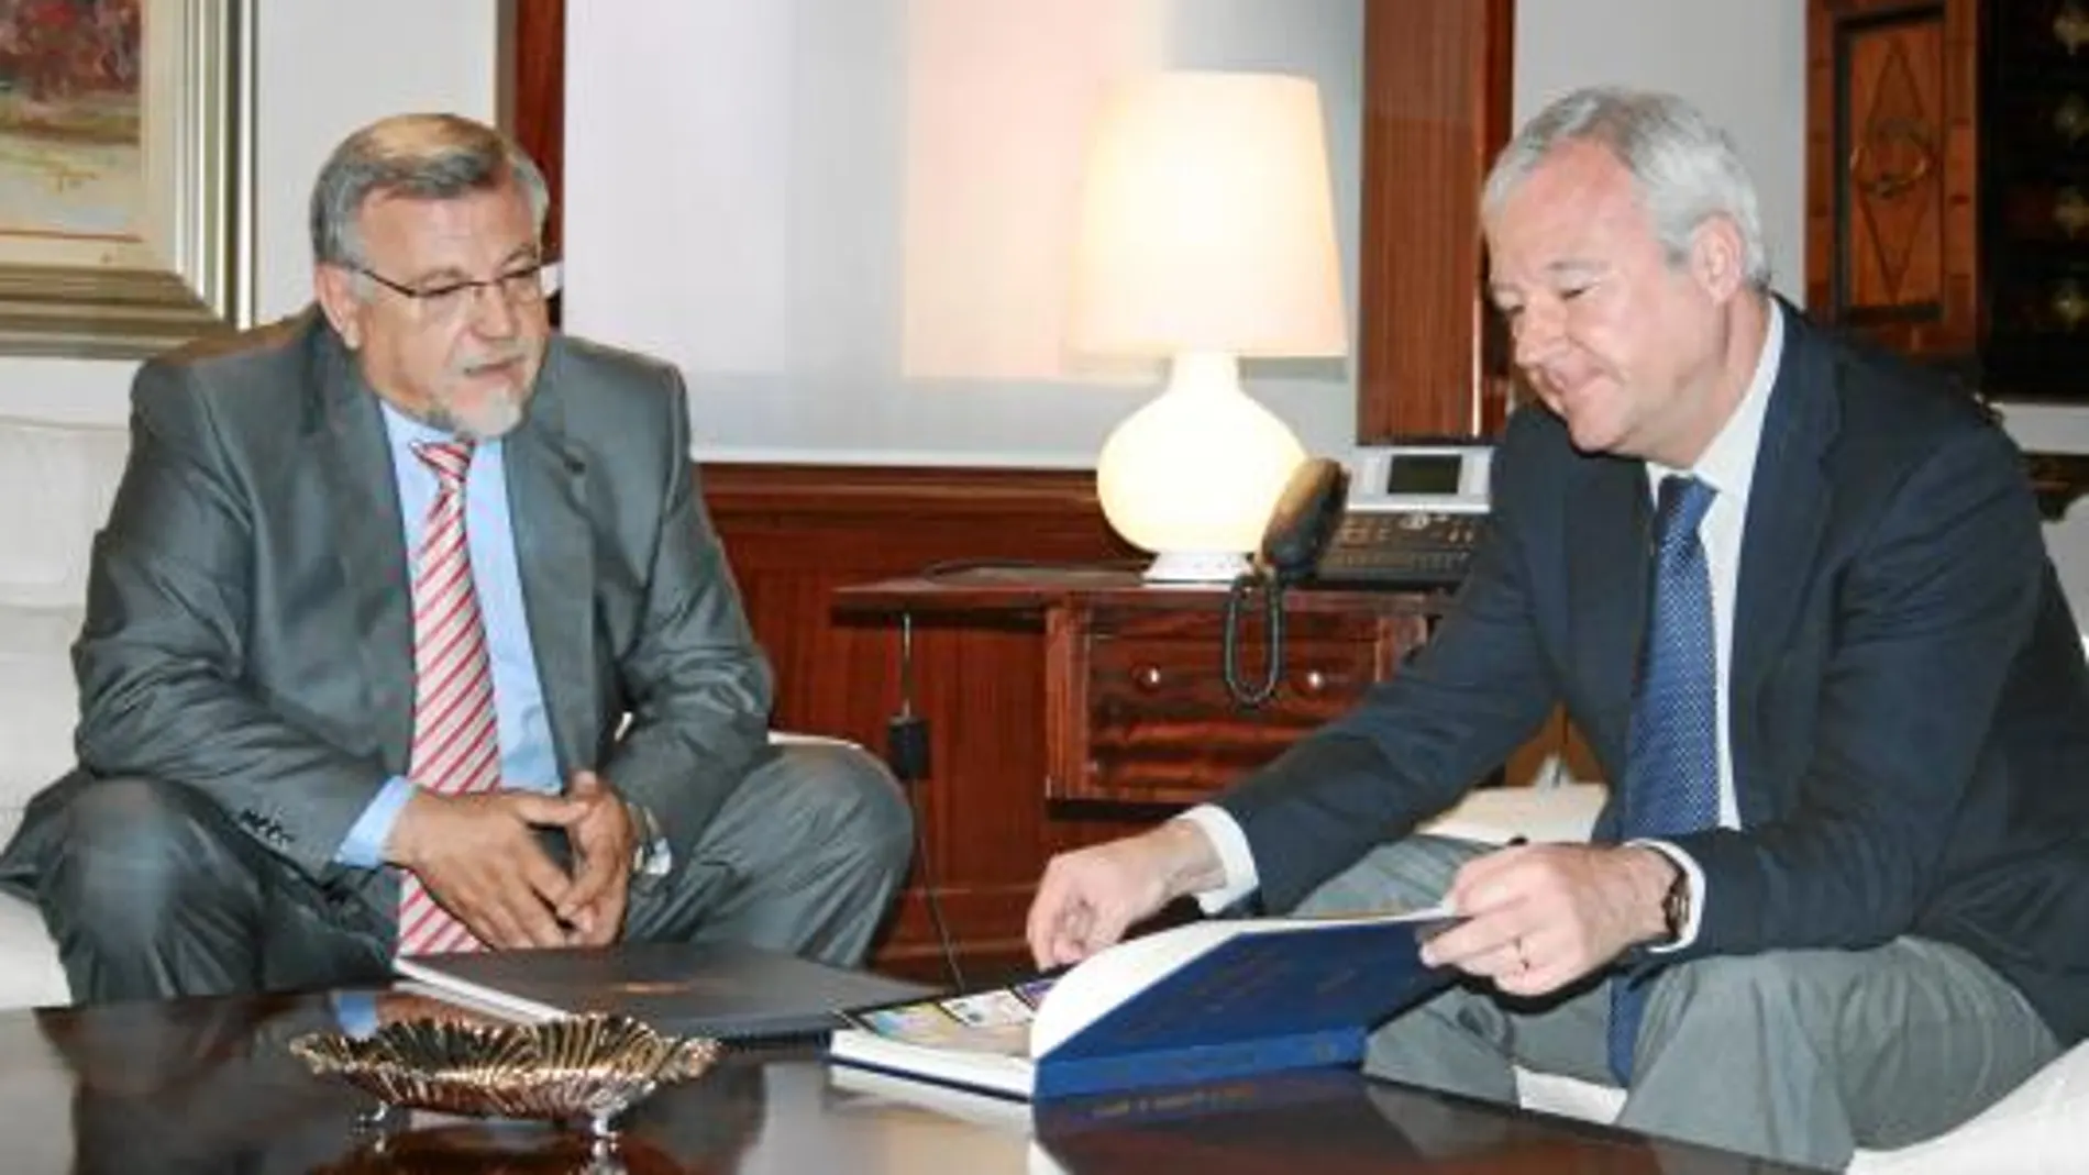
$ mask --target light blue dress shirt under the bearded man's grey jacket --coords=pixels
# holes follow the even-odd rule
[[[405,524],[407,559],[418,561],[420,534],[428,524],[428,503],[435,501],[435,474],[414,445],[424,440],[455,440],[412,419],[391,405],[384,409],[384,434],[391,440],[393,476],[399,480],[399,515]],[[501,739],[501,787],[510,791],[562,791],[558,758],[551,753],[551,726],[543,714],[543,682],[537,676],[537,649],[531,647],[529,622],[522,616],[522,572],[516,568],[514,520],[508,513],[508,463],[499,440],[483,440],[472,451],[472,470],[464,478],[464,538],[472,555],[472,586],[478,589],[478,616],[487,626],[487,653],[493,657],[493,710]],[[412,580],[412,570],[409,580]],[[391,776],[370,808],[355,818],[334,860],[359,868],[384,864],[384,839],[391,837],[399,810],[414,797],[414,783]]]

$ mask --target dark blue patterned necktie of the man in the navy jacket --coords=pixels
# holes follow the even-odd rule
[[[1711,568],[1696,532],[1713,493],[1696,478],[1661,482],[1646,639],[1632,699],[1623,841],[1719,822],[1719,653],[1713,647]],[[1632,1083],[1646,983],[1648,977],[1611,979],[1611,1073],[1625,1085]]]

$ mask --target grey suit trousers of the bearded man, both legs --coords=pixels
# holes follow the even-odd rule
[[[840,966],[863,960],[911,858],[907,799],[856,747],[762,756],[673,872],[633,883],[627,941],[744,941]],[[58,824],[25,895],[44,912],[75,1000],[391,975],[395,910],[288,866],[194,789],[98,781]]]

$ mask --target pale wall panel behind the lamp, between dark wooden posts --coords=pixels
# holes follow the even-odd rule
[[[574,6],[566,326],[677,361],[710,459],[1093,465],[1159,378],[1061,344],[1103,81],[1318,79],[1354,317],[1360,31],[1360,0]],[[1349,363],[1245,374],[1352,445]]]

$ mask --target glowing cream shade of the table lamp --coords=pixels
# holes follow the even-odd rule
[[[1080,196],[1072,344],[1097,355],[1341,355],[1320,90],[1157,73],[1105,98]]]

